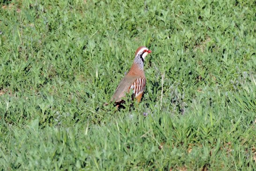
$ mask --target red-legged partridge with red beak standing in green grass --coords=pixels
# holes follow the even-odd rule
[[[136,50],[135,59],[129,72],[121,80],[113,97],[111,98],[111,101],[114,102],[117,107],[125,102],[121,98],[125,97],[125,94],[129,93],[130,90],[133,91],[132,100],[136,98],[137,102],[141,101],[143,91],[146,86],[146,78],[143,69],[144,59],[149,53],[151,53],[151,50],[145,46],[141,46]]]

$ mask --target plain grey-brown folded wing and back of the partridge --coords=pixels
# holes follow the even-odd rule
[[[126,75],[120,82],[117,89],[115,90],[115,93],[111,98],[111,101],[114,101],[114,102],[121,101],[121,98],[125,97],[125,93],[129,92],[131,85],[136,81],[137,78],[138,76]]]

